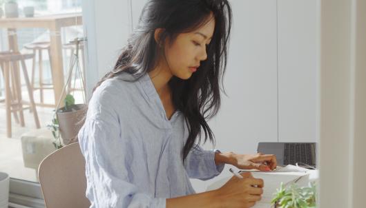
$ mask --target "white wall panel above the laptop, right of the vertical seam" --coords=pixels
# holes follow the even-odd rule
[[[316,142],[316,0],[278,0],[278,137]]]

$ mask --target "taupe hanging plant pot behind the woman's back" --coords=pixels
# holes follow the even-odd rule
[[[86,104],[77,104],[76,105],[79,110],[73,112],[62,112],[65,110],[64,107],[59,108],[57,110],[57,119],[59,121],[59,132],[61,134],[62,143],[64,145],[68,145],[70,142],[76,142],[74,138],[79,133],[81,126],[84,123],[81,123],[84,118],[87,110]]]

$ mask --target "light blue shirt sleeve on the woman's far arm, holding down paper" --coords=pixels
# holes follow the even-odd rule
[[[184,163],[188,176],[200,180],[209,180],[218,176],[225,164],[215,164],[215,152],[220,151],[218,149],[204,150],[199,145],[193,145]]]

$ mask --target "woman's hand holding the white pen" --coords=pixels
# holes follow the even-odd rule
[[[230,208],[253,207],[262,198],[264,183],[253,178],[250,172],[242,173],[243,178],[233,176],[225,185],[216,190],[222,206]]]

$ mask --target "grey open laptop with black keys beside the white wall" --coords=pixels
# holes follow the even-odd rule
[[[279,166],[316,167],[316,143],[258,143],[257,151],[275,154]]]

